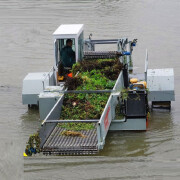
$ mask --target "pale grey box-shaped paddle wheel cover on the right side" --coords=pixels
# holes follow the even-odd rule
[[[149,91],[174,91],[173,69],[148,69],[147,88]]]

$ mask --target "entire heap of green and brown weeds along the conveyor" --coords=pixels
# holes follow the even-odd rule
[[[65,87],[68,90],[112,89],[122,65],[117,59],[82,61],[73,65],[73,78],[68,78]],[[60,119],[100,119],[109,98],[109,93],[66,94]],[[92,123],[61,123],[66,130],[93,129]]]

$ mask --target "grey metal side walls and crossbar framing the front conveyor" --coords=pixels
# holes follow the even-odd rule
[[[113,88],[113,90],[117,91],[117,92],[116,93],[113,92],[110,94],[107,104],[101,115],[101,118],[99,120],[79,120],[79,122],[86,123],[86,122],[91,121],[92,123],[96,124],[95,132],[96,132],[96,137],[97,137],[97,144],[96,144],[97,152],[100,149],[103,149],[103,146],[105,144],[106,135],[108,133],[111,121],[115,117],[115,107],[118,103],[117,98],[118,98],[122,88],[123,88],[123,74],[122,74],[122,72],[120,72],[119,77],[116,81],[116,84]],[[59,120],[63,99],[64,99],[64,95],[59,98],[57,103],[54,105],[54,107],[52,108],[52,110],[49,112],[49,114],[47,115],[47,117],[45,118],[45,120],[42,123],[42,127],[40,129],[40,138],[41,138],[40,146],[44,153],[48,153],[47,148],[45,148],[45,146],[44,146],[46,144],[48,138],[51,136],[51,134],[54,131],[54,129],[56,128],[57,124],[63,121],[63,120]],[[65,120],[63,122],[68,123],[68,122],[72,122],[72,120],[69,120],[69,121]],[[90,147],[87,146],[86,148],[88,149]],[[66,154],[71,154],[70,152],[71,152],[71,150],[68,153],[68,151],[66,149]],[[50,151],[50,149],[49,149],[49,153],[53,153],[53,152]],[[56,154],[63,154],[63,152],[61,152],[61,151],[57,152],[57,150],[56,150]],[[79,153],[76,152],[75,154],[79,154]],[[83,153],[81,153],[81,154],[83,154]]]

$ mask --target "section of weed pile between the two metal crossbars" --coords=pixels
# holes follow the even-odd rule
[[[109,93],[66,94],[61,111],[61,119],[99,119],[104,110]]]

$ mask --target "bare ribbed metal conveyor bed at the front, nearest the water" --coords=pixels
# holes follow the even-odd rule
[[[96,125],[96,123],[93,124]],[[88,155],[98,152],[96,127],[92,130],[79,131],[86,136],[84,138],[61,135],[64,130],[58,126],[54,128],[42,148],[44,154]]]

